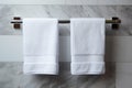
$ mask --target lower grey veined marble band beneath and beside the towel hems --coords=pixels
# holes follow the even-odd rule
[[[70,75],[70,63],[59,63],[59,75],[23,75],[22,64],[0,63],[0,88],[116,88],[114,63],[106,64],[106,75]]]

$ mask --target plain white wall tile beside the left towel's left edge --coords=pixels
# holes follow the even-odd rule
[[[23,41],[21,35],[0,35],[1,62],[22,62]]]

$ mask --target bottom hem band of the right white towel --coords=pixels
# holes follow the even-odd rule
[[[72,75],[105,74],[105,62],[72,63]]]

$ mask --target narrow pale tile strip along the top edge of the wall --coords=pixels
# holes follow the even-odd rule
[[[132,4],[132,0],[0,0],[0,4],[90,4],[114,6]]]

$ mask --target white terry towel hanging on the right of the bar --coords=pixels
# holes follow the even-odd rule
[[[105,74],[105,19],[70,20],[72,74]]]

